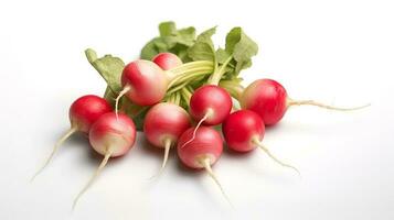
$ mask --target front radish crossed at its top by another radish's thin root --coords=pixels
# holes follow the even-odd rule
[[[194,129],[188,129],[179,139],[178,142],[178,156],[181,162],[194,169],[204,168],[212,179],[220,187],[223,196],[228,200],[222,185],[220,184],[216,175],[213,173],[211,166],[217,162],[223,152],[223,140],[221,134],[209,127],[200,127],[193,136]],[[188,143],[187,143],[188,142]]]

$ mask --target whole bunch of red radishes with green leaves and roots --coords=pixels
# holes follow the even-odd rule
[[[70,130],[36,173],[43,170],[67,138],[75,132],[85,133],[104,158],[74,206],[108,160],[132,147],[137,130],[152,146],[163,150],[157,174],[163,172],[171,147],[177,147],[179,161],[189,168],[205,170],[225,196],[212,169],[224,146],[239,153],[259,147],[274,162],[299,173],[263,144],[266,127],[278,123],[291,106],[312,105],[340,111],[366,107],[297,101],[273,79],[257,79],[244,88],[239,73],[252,65],[257,45],[241,28],[228,32],[225,48],[215,48],[211,40],[215,28],[199,36],[193,28],[178,30],[173,22],[161,23],[159,30],[160,36],[148,42],[141,57],[127,65],[118,57],[99,58],[93,50],[86,50],[89,63],[108,85],[105,95],[84,96],[72,103]]]

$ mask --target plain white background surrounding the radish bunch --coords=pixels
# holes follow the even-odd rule
[[[388,0],[1,1],[0,219],[394,219],[393,11]],[[83,51],[130,62],[164,20],[200,31],[219,25],[222,45],[232,26],[243,26],[259,45],[245,85],[270,77],[294,99],[372,107],[294,108],[267,131],[265,144],[302,179],[260,151],[224,152],[214,172],[235,210],[206,174],[185,170],[174,155],[149,182],[161,151],[139,133],[72,212],[100,161],[84,136],[29,178],[68,129],[72,101],[104,91]]]

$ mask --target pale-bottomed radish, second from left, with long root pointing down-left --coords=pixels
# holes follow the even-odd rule
[[[103,114],[93,124],[89,131],[89,142],[92,147],[104,156],[104,160],[85,187],[76,196],[73,208],[75,208],[81,196],[88,189],[95,178],[103,170],[109,157],[125,155],[132,147],[135,140],[135,123],[126,114],[115,114],[114,112],[109,112]]]

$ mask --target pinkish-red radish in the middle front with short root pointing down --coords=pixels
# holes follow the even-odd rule
[[[143,132],[149,143],[164,148],[164,157],[159,174],[163,170],[171,145],[191,127],[188,112],[181,107],[162,102],[153,106],[147,113]]]

